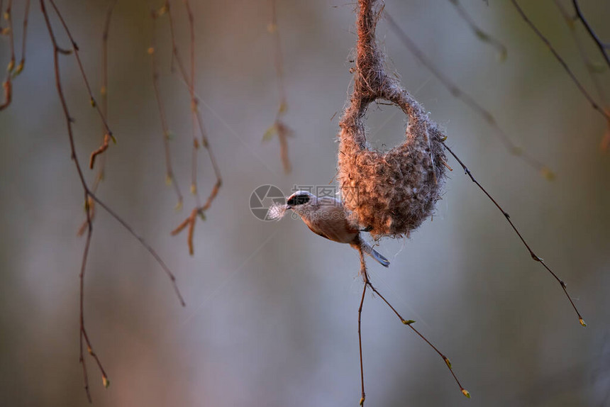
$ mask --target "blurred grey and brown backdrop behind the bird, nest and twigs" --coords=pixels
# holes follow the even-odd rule
[[[260,221],[250,194],[273,184],[334,184],[336,134],[350,90],[355,4],[278,1],[293,171],[284,174],[277,138],[262,143],[279,106],[267,0],[191,1],[196,92],[223,186],[195,228],[170,236],[190,213],[189,93],[170,72],[167,18],[157,24],[160,91],[182,211],[165,185],[162,130],[153,92],[150,10],[162,1],[118,1],[109,33],[109,123],[99,196],[155,247],[177,276],[179,305],[159,265],[126,230],[98,211],[87,267],[85,323],[109,375],[104,389],[87,356],[96,406],[357,406],[360,369],[357,253],[301,221]],[[553,1],[521,1],[528,16],[597,97],[578,48]],[[560,1],[570,8],[569,1]],[[600,38],[610,40],[610,4],[582,0]],[[21,44],[24,1],[13,1]],[[172,2],[178,46],[188,57],[184,5]],[[375,296],[362,337],[367,406],[610,405],[610,156],[607,123],[570,82],[509,1],[463,0],[479,26],[508,50],[504,62],[450,1],[391,1],[385,9],[433,63],[489,109],[512,140],[556,173],[549,182],[509,155],[493,128],[455,99],[381,21],[389,69],[446,129],[448,144],[521,228],[533,250],[565,279],[588,326],[559,284],[531,260],[501,213],[457,165],[433,221],[405,240],[382,240],[389,269],[370,262],[372,281],[404,318],[453,362],[468,400],[443,360]],[[57,1],[99,94],[101,33],[109,1]],[[6,1],[5,1],[6,6]],[[69,42],[52,22],[60,44]],[[2,26],[6,26],[3,21]],[[584,51],[603,67],[582,25]],[[0,38],[0,66],[9,42]],[[19,57],[19,54],[18,54]],[[70,160],[55,89],[52,45],[31,4],[23,73],[0,113],[0,400],[6,406],[83,406],[79,365],[82,189]],[[73,57],[62,82],[86,167],[101,124]],[[609,73],[599,75],[604,91]],[[607,106],[606,106],[607,107]],[[370,142],[404,138],[404,116],[371,106]],[[215,182],[204,150],[199,190]],[[92,181],[95,172],[87,169]]]

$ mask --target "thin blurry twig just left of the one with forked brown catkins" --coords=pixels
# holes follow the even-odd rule
[[[165,115],[165,106],[163,104],[160,89],[159,89],[159,68],[157,63],[157,41],[156,41],[156,21],[157,17],[162,16],[162,14],[166,13],[167,9],[163,6],[159,10],[155,10],[151,12],[151,16],[153,18],[153,28],[150,40],[150,48],[148,48],[148,54],[150,55],[150,64],[153,69],[153,87],[155,89],[155,99],[157,99],[157,108],[159,109],[159,118],[161,121],[161,130],[162,130],[162,138],[163,138],[163,147],[165,148],[165,182],[168,185],[172,185],[174,187],[174,191],[176,193],[178,202],[176,204],[176,209],[179,210],[182,208],[182,193],[180,192],[180,187],[178,185],[178,180],[174,176],[174,171],[172,169],[172,158],[170,155],[170,140],[172,138],[172,133],[170,132],[170,128],[167,126],[167,118]]]

